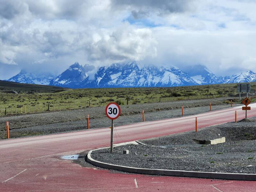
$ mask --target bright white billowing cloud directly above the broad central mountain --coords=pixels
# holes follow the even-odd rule
[[[86,50],[89,60],[142,60],[156,56],[156,40],[150,29],[126,24],[109,35],[99,35]]]

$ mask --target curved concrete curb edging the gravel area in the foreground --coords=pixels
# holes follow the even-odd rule
[[[105,147],[109,148],[109,147]],[[180,171],[180,170],[166,170],[166,169],[143,169],[136,167],[127,167],[122,165],[114,165],[96,161],[91,157],[91,153],[96,150],[103,148],[98,148],[89,151],[87,154],[87,161],[98,167],[106,169],[114,169],[118,171],[148,174],[148,175],[167,175],[167,176],[178,176],[178,177],[198,177],[198,178],[208,178],[208,179],[225,179],[225,180],[249,180],[255,181],[256,174],[246,174],[246,173],[219,173],[219,172],[194,172],[194,171]]]

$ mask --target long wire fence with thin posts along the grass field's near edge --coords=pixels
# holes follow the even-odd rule
[[[178,96],[178,97],[145,97],[145,98],[118,98],[114,99],[90,99],[90,100],[69,100],[60,102],[46,102],[37,104],[25,104],[12,107],[8,104],[0,104],[0,116],[5,115],[18,115],[18,114],[33,114],[33,113],[44,113],[48,111],[60,111],[60,110],[71,110],[71,109],[82,109],[92,107],[103,107],[109,102],[116,102],[118,105],[136,105],[143,103],[156,103],[156,102],[168,102],[177,100],[196,100],[196,99],[212,99],[219,97],[227,97],[234,95],[234,92],[225,94],[209,94],[209,95],[191,95],[191,96]]]

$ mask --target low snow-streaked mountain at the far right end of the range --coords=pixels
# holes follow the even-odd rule
[[[252,71],[246,71],[244,73],[239,73],[234,76],[224,77],[221,83],[245,83],[256,81],[256,73]]]

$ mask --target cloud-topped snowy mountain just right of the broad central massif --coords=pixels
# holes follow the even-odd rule
[[[198,84],[218,84],[220,78],[216,77],[203,65],[194,65],[187,70],[188,75]]]

